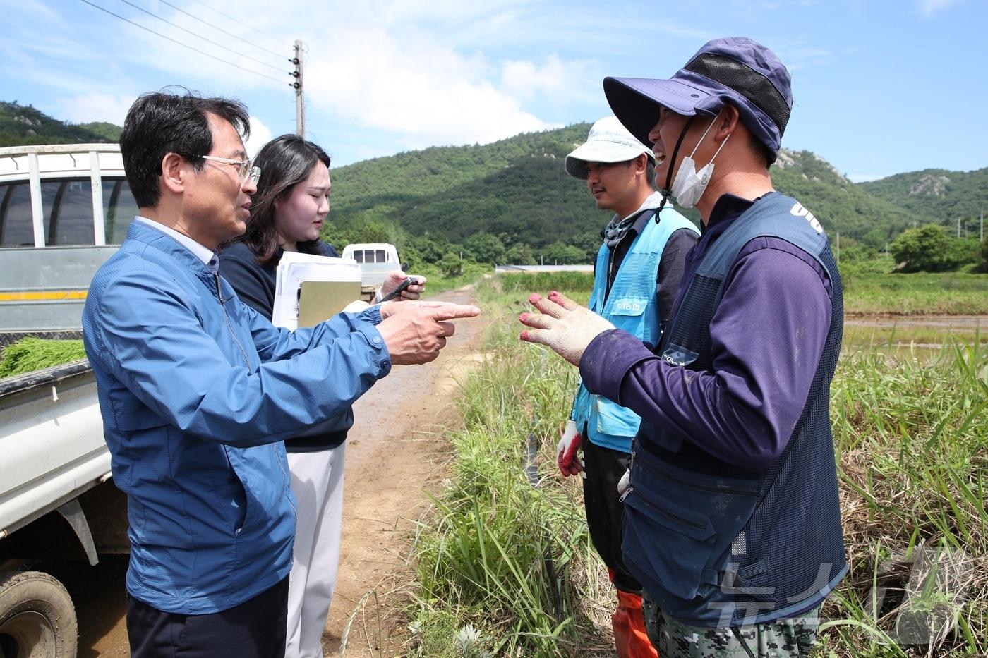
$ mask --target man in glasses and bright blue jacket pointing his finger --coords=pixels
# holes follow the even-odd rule
[[[392,364],[432,361],[447,320],[479,312],[404,302],[291,333],[242,304],[214,251],[243,232],[260,174],[240,130],[235,101],[134,102],[121,152],[140,215],[83,310],[127,495],[133,656],[283,656],[295,514],[282,440]]]

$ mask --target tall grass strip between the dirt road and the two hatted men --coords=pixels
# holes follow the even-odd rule
[[[480,287],[488,311],[501,281]],[[609,655],[614,595],[590,545],[580,480],[563,480],[554,462],[576,372],[519,345],[517,304],[504,301],[486,337],[492,358],[462,382],[451,480],[416,539],[414,653]]]

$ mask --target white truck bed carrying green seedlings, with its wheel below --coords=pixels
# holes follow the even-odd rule
[[[87,361],[0,379],[0,454],[0,655],[73,657],[72,600],[35,565],[129,550]]]

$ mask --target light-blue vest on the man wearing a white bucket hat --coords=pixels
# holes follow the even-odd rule
[[[608,294],[608,264],[611,248],[605,242],[597,252],[594,269],[594,291],[590,295],[590,310],[610,320],[618,329],[637,336],[644,343],[658,345],[662,337],[659,323],[658,302],[655,298],[655,280],[659,261],[669,236],[681,228],[689,228],[698,235],[700,231],[692,221],[671,207],[659,215],[659,221],[649,220],[635,236],[631,248],[617,269],[617,277]],[[638,432],[641,417],[630,409],[601,395],[592,395],[581,383],[573,401],[571,419],[594,444],[620,452],[631,452],[631,439]]]

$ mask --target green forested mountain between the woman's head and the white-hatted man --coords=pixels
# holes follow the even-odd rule
[[[463,243],[478,232],[506,245],[556,241],[596,249],[607,214],[566,175],[566,153],[589,124],[483,146],[438,146],[333,170],[334,223],[397,221],[410,235]]]

